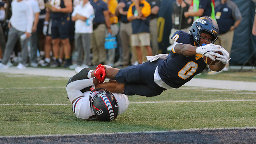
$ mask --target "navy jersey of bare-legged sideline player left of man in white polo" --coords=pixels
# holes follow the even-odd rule
[[[50,4],[55,8],[66,8],[63,0],[51,0]],[[52,19],[66,19],[68,17],[68,13],[60,13],[60,12],[51,12]]]

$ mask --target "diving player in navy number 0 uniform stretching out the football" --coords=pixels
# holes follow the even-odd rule
[[[160,95],[166,89],[181,87],[200,74],[207,67],[203,55],[220,61],[209,66],[214,71],[222,70],[230,60],[225,49],[213,44],[218,38],[218,25],[210,17],[196,19],[190,34],[177,31],[171,38],[175,42],[169,55],[147,56],[148,62],[125,69],[98,65],[91,74],[92,77],[96,77],[100,82],[105,78],[115,79],[117,82],[100,83],[95,88],[105,88],[113,93],[126,95]],[[217,51],[223,55],[215,53]],[[213,56],[217,56],[216,59]]]

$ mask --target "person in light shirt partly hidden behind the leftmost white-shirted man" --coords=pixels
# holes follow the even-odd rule
[[[30,37],[30,66],[37,67],[37,24],[39,21],[39,13],[41,12],[39,3],[36,0],[28,0],[33,9],[33,27]]]

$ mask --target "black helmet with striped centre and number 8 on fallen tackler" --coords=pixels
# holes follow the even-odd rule
[[[100,121],[116,119],[119,111],[115,96],[103,88],[92,90],[89,96],[90,107]]]

